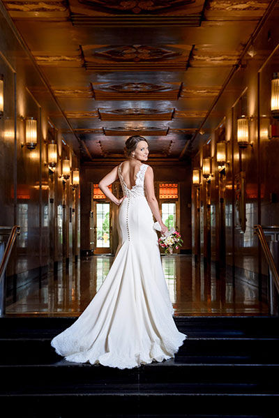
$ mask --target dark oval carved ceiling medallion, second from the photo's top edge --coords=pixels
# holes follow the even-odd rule
[[[167,48],[152,47],[149,45],[121,45],[118,47],[103,47],[94,50],[93,57],[109,59],[110,61],[158,61],[161,59],[174,59],[181,55]]]

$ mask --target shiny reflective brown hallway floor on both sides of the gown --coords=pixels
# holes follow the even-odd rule
[[[176,316],[268,315],[257,286],[229,275],[216,278],[213,267],[192,255],[162,255],[165,279]],[[105,280],[112,255],[93,255],[47,274],[7,299],[7,315],[78,316]]]

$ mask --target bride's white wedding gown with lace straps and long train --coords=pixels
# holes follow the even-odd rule
[[[174,357],[188,337],[177,328],[163,272],[144,174],[129,189],[118,167],[123,195],[119,246],[105,281],[79,318],[51,345],[68,361],[134,368]]]

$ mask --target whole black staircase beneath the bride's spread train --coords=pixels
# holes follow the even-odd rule
[[[188,338],[175,359],[124,370],[55,353],[50,340],[75,320],[0,318],[9,417],[279,416],[278,317],[177,317]]]

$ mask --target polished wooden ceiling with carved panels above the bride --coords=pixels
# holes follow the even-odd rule
[[[144,135],[152,160],[187,160],[223,118],[210,113],[269,1],[8,0],[63,110],[52,123],[82,161],[123,159]],[[47,89],[31,83],[40,102]],[[67,120],[68,119],[68,120]],[[193,138],[195,137],[195,141]]]

